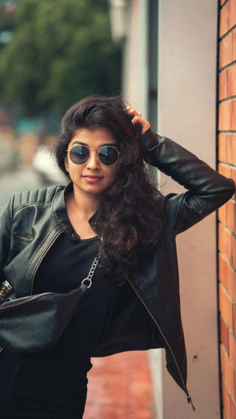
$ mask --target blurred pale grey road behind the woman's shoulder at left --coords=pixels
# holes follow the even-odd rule
[[[31,168],[17,171],[4,171],[0,173],[0,215],[8,205],[10,197],[16,192],[50,186]]]

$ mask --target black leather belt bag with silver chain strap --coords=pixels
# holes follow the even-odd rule
[[[0,301],[4,301],[0,305],[0,347],[13,353],[25,353],[56,343],[85,290],[91,286],[99,258],[100,254],[80,288],[68,294],[45,292],[14,299],[12,287],[4,281],[0,288]]]

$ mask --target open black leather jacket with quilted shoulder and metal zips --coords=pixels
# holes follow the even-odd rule
[[[92,356],[165,347],[167,369],[191,402],[186,389],[187,361],[175,238],[227,202],[235,192],[235,183],[176,142],[156,136],[150,129],[142,135],[141,142],[152,166],[171,176],[187,191],[158,198],[157,204],[165,212],[158,247],[147,254],[142,274],[135,272],[129,278],[147,309],[148,338],[141,332],[134,339],[127,322],[120,324],[114,320]],[[11,283],[17,298],[31,294],[36,270],[61,232],[65,230],[71,240],[80,239],[65,209],[64,194],[71,187],[69,184],[66,188],[53,186],[15,194],[1,217],[0,277]],[[93,217],[89,223],[92,226]]]

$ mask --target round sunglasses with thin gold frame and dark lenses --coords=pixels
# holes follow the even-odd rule
[[[84,163],[88,162],[90,157],[90,150],[95,147],[89,148],[86,145],[72,145],[69,151],[70,160],[75,165],[84,165]],[[104,145],[101,148],[96,148],[97,157],[99,162],[104,166],[114,166],[119,159],[119,155],[121,154],[116,147],[113,145]]]

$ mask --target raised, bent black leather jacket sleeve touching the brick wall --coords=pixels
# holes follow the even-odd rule
[[[166,226],[175,234],[203,220],[235,193],[235,182],[227,178],[190,151],[149,128],[141,136],[145,160],[169,175],[188,191],[168,194]]]

